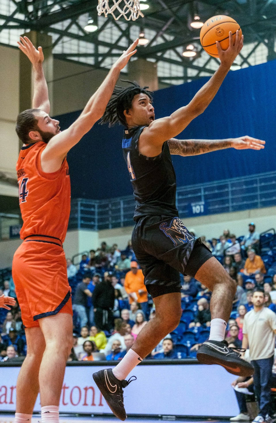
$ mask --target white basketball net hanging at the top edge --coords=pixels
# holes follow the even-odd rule
[[[108,4],[113,2],[113,5]],[[140,11],[140,2],[139,0],[98,0],[97,6],[98,16],[104,14],[107,18],[108,14],[111,14],[113,18],[117,21],[123,16],[126,21],[136,21],[136,19],[144,15]],[[116,14],[115,14],[116,13]]]

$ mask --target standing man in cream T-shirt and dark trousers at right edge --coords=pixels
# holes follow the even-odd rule
[[[246,313],[243,320],[242,348],[249,347],[251,363],[254,365],[254,390],[260,407],[254,423],[272,423],[271,377],[275,348],[276,313],[264,307],[265,294],[256,288],[252,302],[254,309]]]

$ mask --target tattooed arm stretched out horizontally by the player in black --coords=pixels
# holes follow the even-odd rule
[[[249,136],[240,138],[228,138],[226,140],[168,140],[171,154],[179,156],[197,156],[199,154],[210,153],[210,151],[224,150],[225,148],[235,148],[236,150],[261,150],[265,141],[257,140]]]

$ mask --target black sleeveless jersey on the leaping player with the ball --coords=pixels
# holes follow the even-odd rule
[[[144,128],[137,126],[126,129],[122,143],[136,200],[134,220],[148,215],[178,217],[175,170],[168,143],[163,144],[159,156],[143,156],[138,150],[138,140]]]

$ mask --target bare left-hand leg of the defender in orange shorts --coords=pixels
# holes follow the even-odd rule
[[[23,423],[23,421],[28,420],[22,414],[33,414],[33,407],[39,391],[38,373],[45,350],[44,336],[40,327],[26,328],[25,335],[27,355],[22,363],[16,382],[15,423]]]

